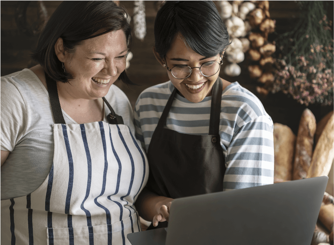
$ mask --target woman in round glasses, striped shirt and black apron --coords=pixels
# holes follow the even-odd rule
[[[273,122],[253,93],[219,78],[229,36],[212,1],[166,1],[154,35],[170,81],[136,102],[150,165],[136,206],[164,227],[174,198],[272,184]]]

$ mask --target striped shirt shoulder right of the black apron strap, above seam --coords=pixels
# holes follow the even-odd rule
[[[222,112],[237,115],[238,120],[243,121],[244,124],[261,117],[266,118],[272,124],[272,119],[260,99],[238,82],[233,82],[227,86],[221,99]],[[243,124],[242,122],[240,123]]]

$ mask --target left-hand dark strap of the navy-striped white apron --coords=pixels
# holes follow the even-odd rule
[[[57,82],[48,76],[45,72],[45,81],[47,86],[47,91],[49,93],[51,109],[53,113],[53,118],[56,124],[65,124],[65,120],[63,114],[61,112],[58,90],[57,90]]]

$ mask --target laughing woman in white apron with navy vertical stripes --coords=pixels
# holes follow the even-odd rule
[[[1,77],[1,244],[129,244],[148,178],[116,79],[131,44],[113,1],[63,1],[33,58]]]

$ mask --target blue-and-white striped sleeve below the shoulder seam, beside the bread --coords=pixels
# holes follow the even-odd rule
[[[234,133],[225,159],[224,190],[274,183],[273,129],[271,118],[261,115]]]

